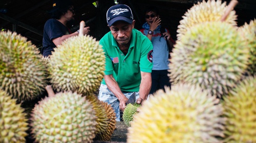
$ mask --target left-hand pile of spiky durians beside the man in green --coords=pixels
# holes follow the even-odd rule
[[[95,95],[104,67],[90,36],[71,37],[46,58],[27,38],[1,32],[0,142],[110,141],[116,115]]]

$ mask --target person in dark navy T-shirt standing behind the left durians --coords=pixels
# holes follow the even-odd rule
[[[79,31],[71,33],[67,23],[74,20],[75,10],[70,0],[53,1],[52,18],[47,20],[44,26],[41,53],[49,56],[57,45],[69,37],[79,34]],[[90,27],[84,27],[83,35],[90,32]]]

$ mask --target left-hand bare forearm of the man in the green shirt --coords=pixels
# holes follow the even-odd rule
[[[125,108],[125,103],[128,101],[128,98],[126,98],[123,93],[121,92],[121,89],[119,88],[118,83],[116,82],[113,75],[104,75],[104,80],[106,83],[106,86],[108,89],[117,97],[119,100],[119,107],[123,111]]]

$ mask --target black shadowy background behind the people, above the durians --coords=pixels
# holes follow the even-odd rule
[[[84,20],[91,27],[90,35],[99,40],[105,33],[109,32],[106,23],[106,11],[115,5],[114,0],[71,0],[76,9],[75,21],[69,24],[71,31],[76,31],[79,22]],[[93,5],[97,2],[97,7]],[[191,0],[119,0],[119,4],[131,7],[135,28],[138,30],[145,22],[144,10],[147,6],[156,6],[160,10],[162,25],[166,27],[172,38],[177,39],[177,27],[184,13],[198,1]],[[229,4],[230,1],[222,1]],[[40,47],[42,44],[42,32],[45,22],[51,18],[47,11],[52,9],[52,0],[1,0],[0,1],[0,28],[15,31],[33,44]],[[255,0],[241,0],[234,8],[238,15],[238,25],[253,20],[256,15]]]

